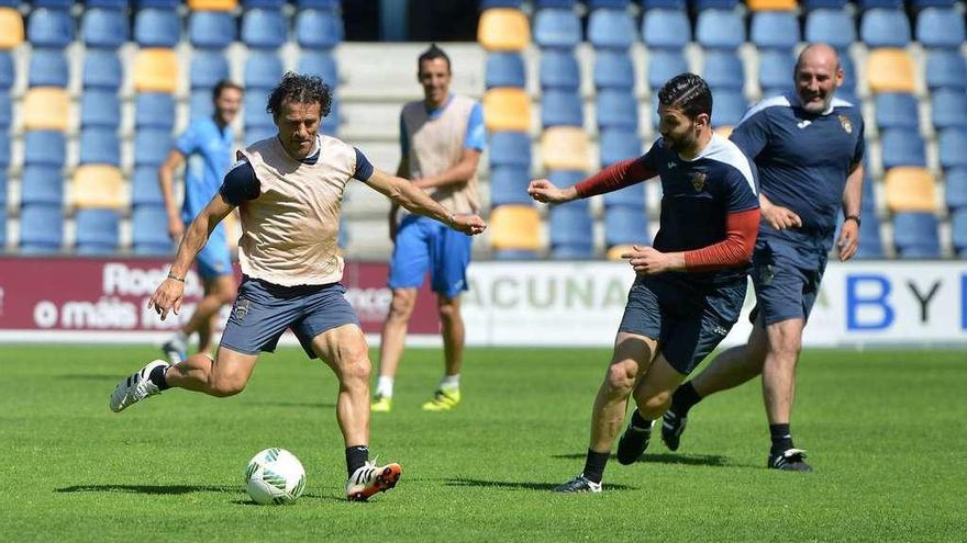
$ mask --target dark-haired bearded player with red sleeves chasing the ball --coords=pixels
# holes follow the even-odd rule
[[[702,78],[682,73],[666,82],[658,92],[658,114],[662,137],[645,156],[567,189],[544,179],[529,188],[540,202],[562,203],[662,178],[654,247],[635,246],[623,256],[637,278],[594,400],[585,470],[556,491],[601,491],[629,394],[637,407],[618,445],[618,460],[631,464],[644,453],[671,393],[729,333],[745,298],[759,223],[755,166],[712,132],[712,93]]]

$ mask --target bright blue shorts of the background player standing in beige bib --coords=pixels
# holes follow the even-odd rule
[[[419,289],[430,271],[433,291],[448,298],[466,291],[473,238],[429,217],[409,215],[397,230],[390,289]]]

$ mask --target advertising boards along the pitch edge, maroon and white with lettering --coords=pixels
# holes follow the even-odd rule
[[[191,315],[201,294],[192,272],[180,315],[162,321],[147,302],[166,272],[167,261],[153,259],[2,259],[0,341],[159,342]],[[386,273],[385,263],[346,265],[347,296],[373,343],[390,299]],[[467,341],[610,346],[633,279],[620,262],[475,263],[464,297]],[[726,344],[747,337],[753,303],[749,289]],[[411,344],[440,344],[438,326],[434,297],[424,285]],[[967,346],[967,268],[960,262],[831,263],[804,342]]]

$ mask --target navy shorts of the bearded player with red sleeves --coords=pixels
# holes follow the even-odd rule
[[[745,289],[745,280],[699,289],[640,275],[618,329],[658,340],[671,367],[688,375],[738,320]]]

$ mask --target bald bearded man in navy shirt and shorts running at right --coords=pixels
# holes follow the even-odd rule
[[[752,274],[755,327],[747,344],[724,351],[676,391],[662,437],[677,450],[694,404],[762,373],[773,441],[768,467],[808,472],[789,430],[796,363],[840,208],[845,217],[836,240],[840,260],[856,253],[865,144],[859,109],[833,98],[843,82],[835,49],[810,45],[794,76],[794,93],[762,101],[732,133],[762,181],[763,224]]]

